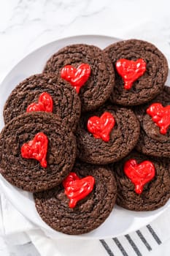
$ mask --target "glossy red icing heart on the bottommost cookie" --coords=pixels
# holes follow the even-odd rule
[[[69,173],[63,181],[65,194],[69,197],[69,207],[74,208],[78,201],[85,198],[93,190],[95,179],[93,176],[79,178],[76,173]]]

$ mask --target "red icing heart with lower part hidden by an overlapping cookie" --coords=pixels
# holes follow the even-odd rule
[[[26,112],[32,111],[53,112],[53,99],[50,94],[47,94],[47,92],[43,92],[39,96],[38,103],[31,103],[30,105],[28,105]]]

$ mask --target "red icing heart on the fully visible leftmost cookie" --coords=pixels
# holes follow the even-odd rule
[[[21,156],[27,159],[36,159],[42,167],[47,167],[47,144],[47,136],[43,132],[38,132],[33,140],[23,144],[20,150]]]

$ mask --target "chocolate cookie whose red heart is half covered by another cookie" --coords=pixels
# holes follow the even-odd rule
[[[43,102],[41,95],[47,93]],[[57,78],[52,74],[32,75],[23,80],[10,94],[4,105],[4,122],[7,124],[12,118],[26,113],[28,106],[32,110],[52,111],[61,117],[63,124],[69,125],[74,131],[77,127],[77,121],[80,118],[81,103],[76,91],[63,79]],[[47,105],[47,106],[46,106]]]

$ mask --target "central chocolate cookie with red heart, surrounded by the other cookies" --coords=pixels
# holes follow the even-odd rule
[[[105,165],[122,159],[134,148],[139,121],[132,110],[105,105],[81,116],[76,136],[77,157]]]

